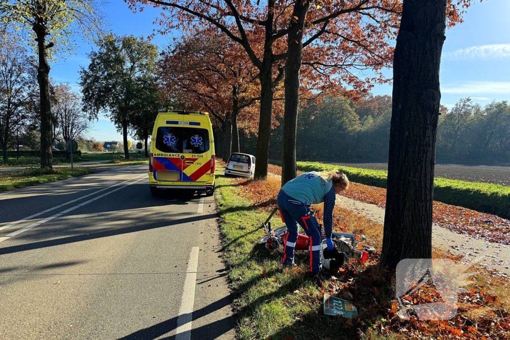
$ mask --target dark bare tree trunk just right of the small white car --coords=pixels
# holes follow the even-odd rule
[[[266,179],[269,164],[269,141],[271,139],[271,120],[273,112],[272,61],[265,61],[260,73],[261,98],[259,135],[257,138],[257,167],[255,179]]]

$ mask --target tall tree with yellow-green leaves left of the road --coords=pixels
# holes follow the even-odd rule
[[[49,61],[68,53],[78,35],[88,37],[103,26],[100,0],[1,0],[4,28],[28,37],[37,55],[40,94],[41,167],[52,168],[52,111],[49,93]]]

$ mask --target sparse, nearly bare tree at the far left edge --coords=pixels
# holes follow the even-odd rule
[[[30,102],[36,85],[27,50],[15,37],[0,34],[0,147],[4,162],[9,144],[33,115]]]

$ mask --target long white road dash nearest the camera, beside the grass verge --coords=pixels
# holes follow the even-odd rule
[[[184,281],[183,298],[177,317],[175,340],[191,339],[191,322],[193,320],[193,303],[195,302],[196,268],[198,267],[198,247],[191,248],[188,271]]]

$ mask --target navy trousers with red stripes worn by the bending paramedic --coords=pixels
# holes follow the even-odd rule
[[[322,234],[319,223],[310,210],[310,206],[287,195],[283,190],[278,193],[278,207],[287,229],[284,245],[284,264],[294,263],[294,248],[297,241],[299,225],[303,227],[310,239],[310,271],[319,273],[322,270],[321,243]]]

